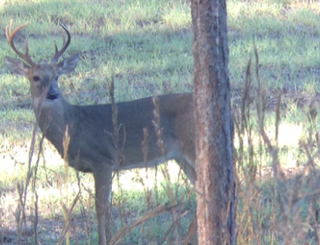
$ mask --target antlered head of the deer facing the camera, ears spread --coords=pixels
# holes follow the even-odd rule
[[[67,33],[67,41],[65,42],[64,40],[63,47],[60,51],[58,50],[56,43],[54,44],[55,55],[51,59],[50,64],[35,63],[29,56],[27,39],[25,40],[26,51],[24,54],[20,52],[14,44],[14,38],[16,37],[16,34],[27,25],[28,23],[20,25],[12,31],[11,21],[10,27],[6,27],[6,36],[11,48],[20,58],[22,58],[24,62],[11,57],[6,57],[5,61],[12,73],[28,78],[30,82],[33,105],[34,107],[37,107],[36,101],[40,101],[41,96],[45,96],[47,100],[55,100],[59,97],[62,97],[58,87],[59,76],[72,72],[77,66],[79,57],[78,55],[73,55],[58,63],[59,58],[66,51],[71,40],[71,36],[67,27],[60,23],[60,26]],[[43,99],[44,98],[42,98],[42,100]]]

